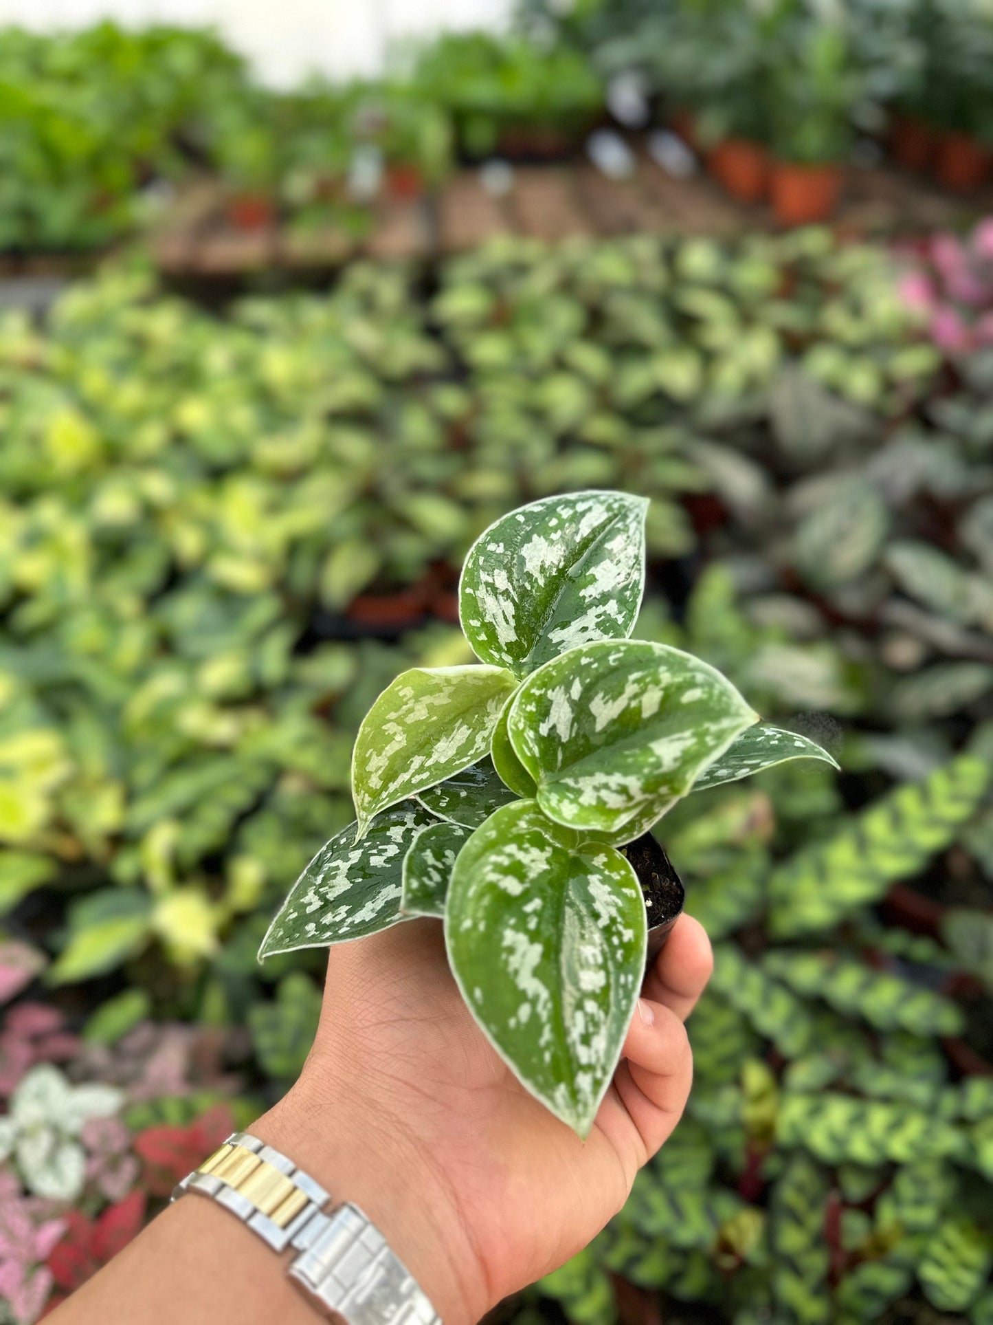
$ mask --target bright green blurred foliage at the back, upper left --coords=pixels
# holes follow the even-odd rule
[[[360,233],[393,168],[410,196],[445,178],[455,147],[487,155],[508,132],[568,146],[602,106],[583,54],[522,34],[444,36],[406,64],[275,91],[209,29],[0,28],[0,253],[106,245],[205,172],[234,225],[282,212]]]

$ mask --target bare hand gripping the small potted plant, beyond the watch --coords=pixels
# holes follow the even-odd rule
[[[585,1247],[673,1132],[692,1077],[683,1022],[711,966],[682,916],[583,1142],[473,1020],[437,922],[342,943],[303,1075],[252,1130],[369,1215],[445,1325],[470,1325]]]

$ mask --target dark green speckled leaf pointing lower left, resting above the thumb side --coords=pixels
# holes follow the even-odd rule
[[[363,938],[404,920],[404,856],[421,828],[434,823],[424,806],[408,802],[376,815],[361,841],[355,840],[354,823],[335,833],[290,889],[262,939],[260,959]]]

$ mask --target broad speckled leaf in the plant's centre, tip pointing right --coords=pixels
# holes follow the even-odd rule
[[[544,812],[616,835],[663,815],[755,721],[707,662],[665,644],[608,640],[530,676],[507,726]]]

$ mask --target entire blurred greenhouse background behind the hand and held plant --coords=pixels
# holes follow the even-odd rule
[[[494,1320],[993,1325],[993,8],[351,9],[0,4],[0,1322],[297,1077],[359,722],[618,488],[841,771],[659,824],[687,1114]]]

